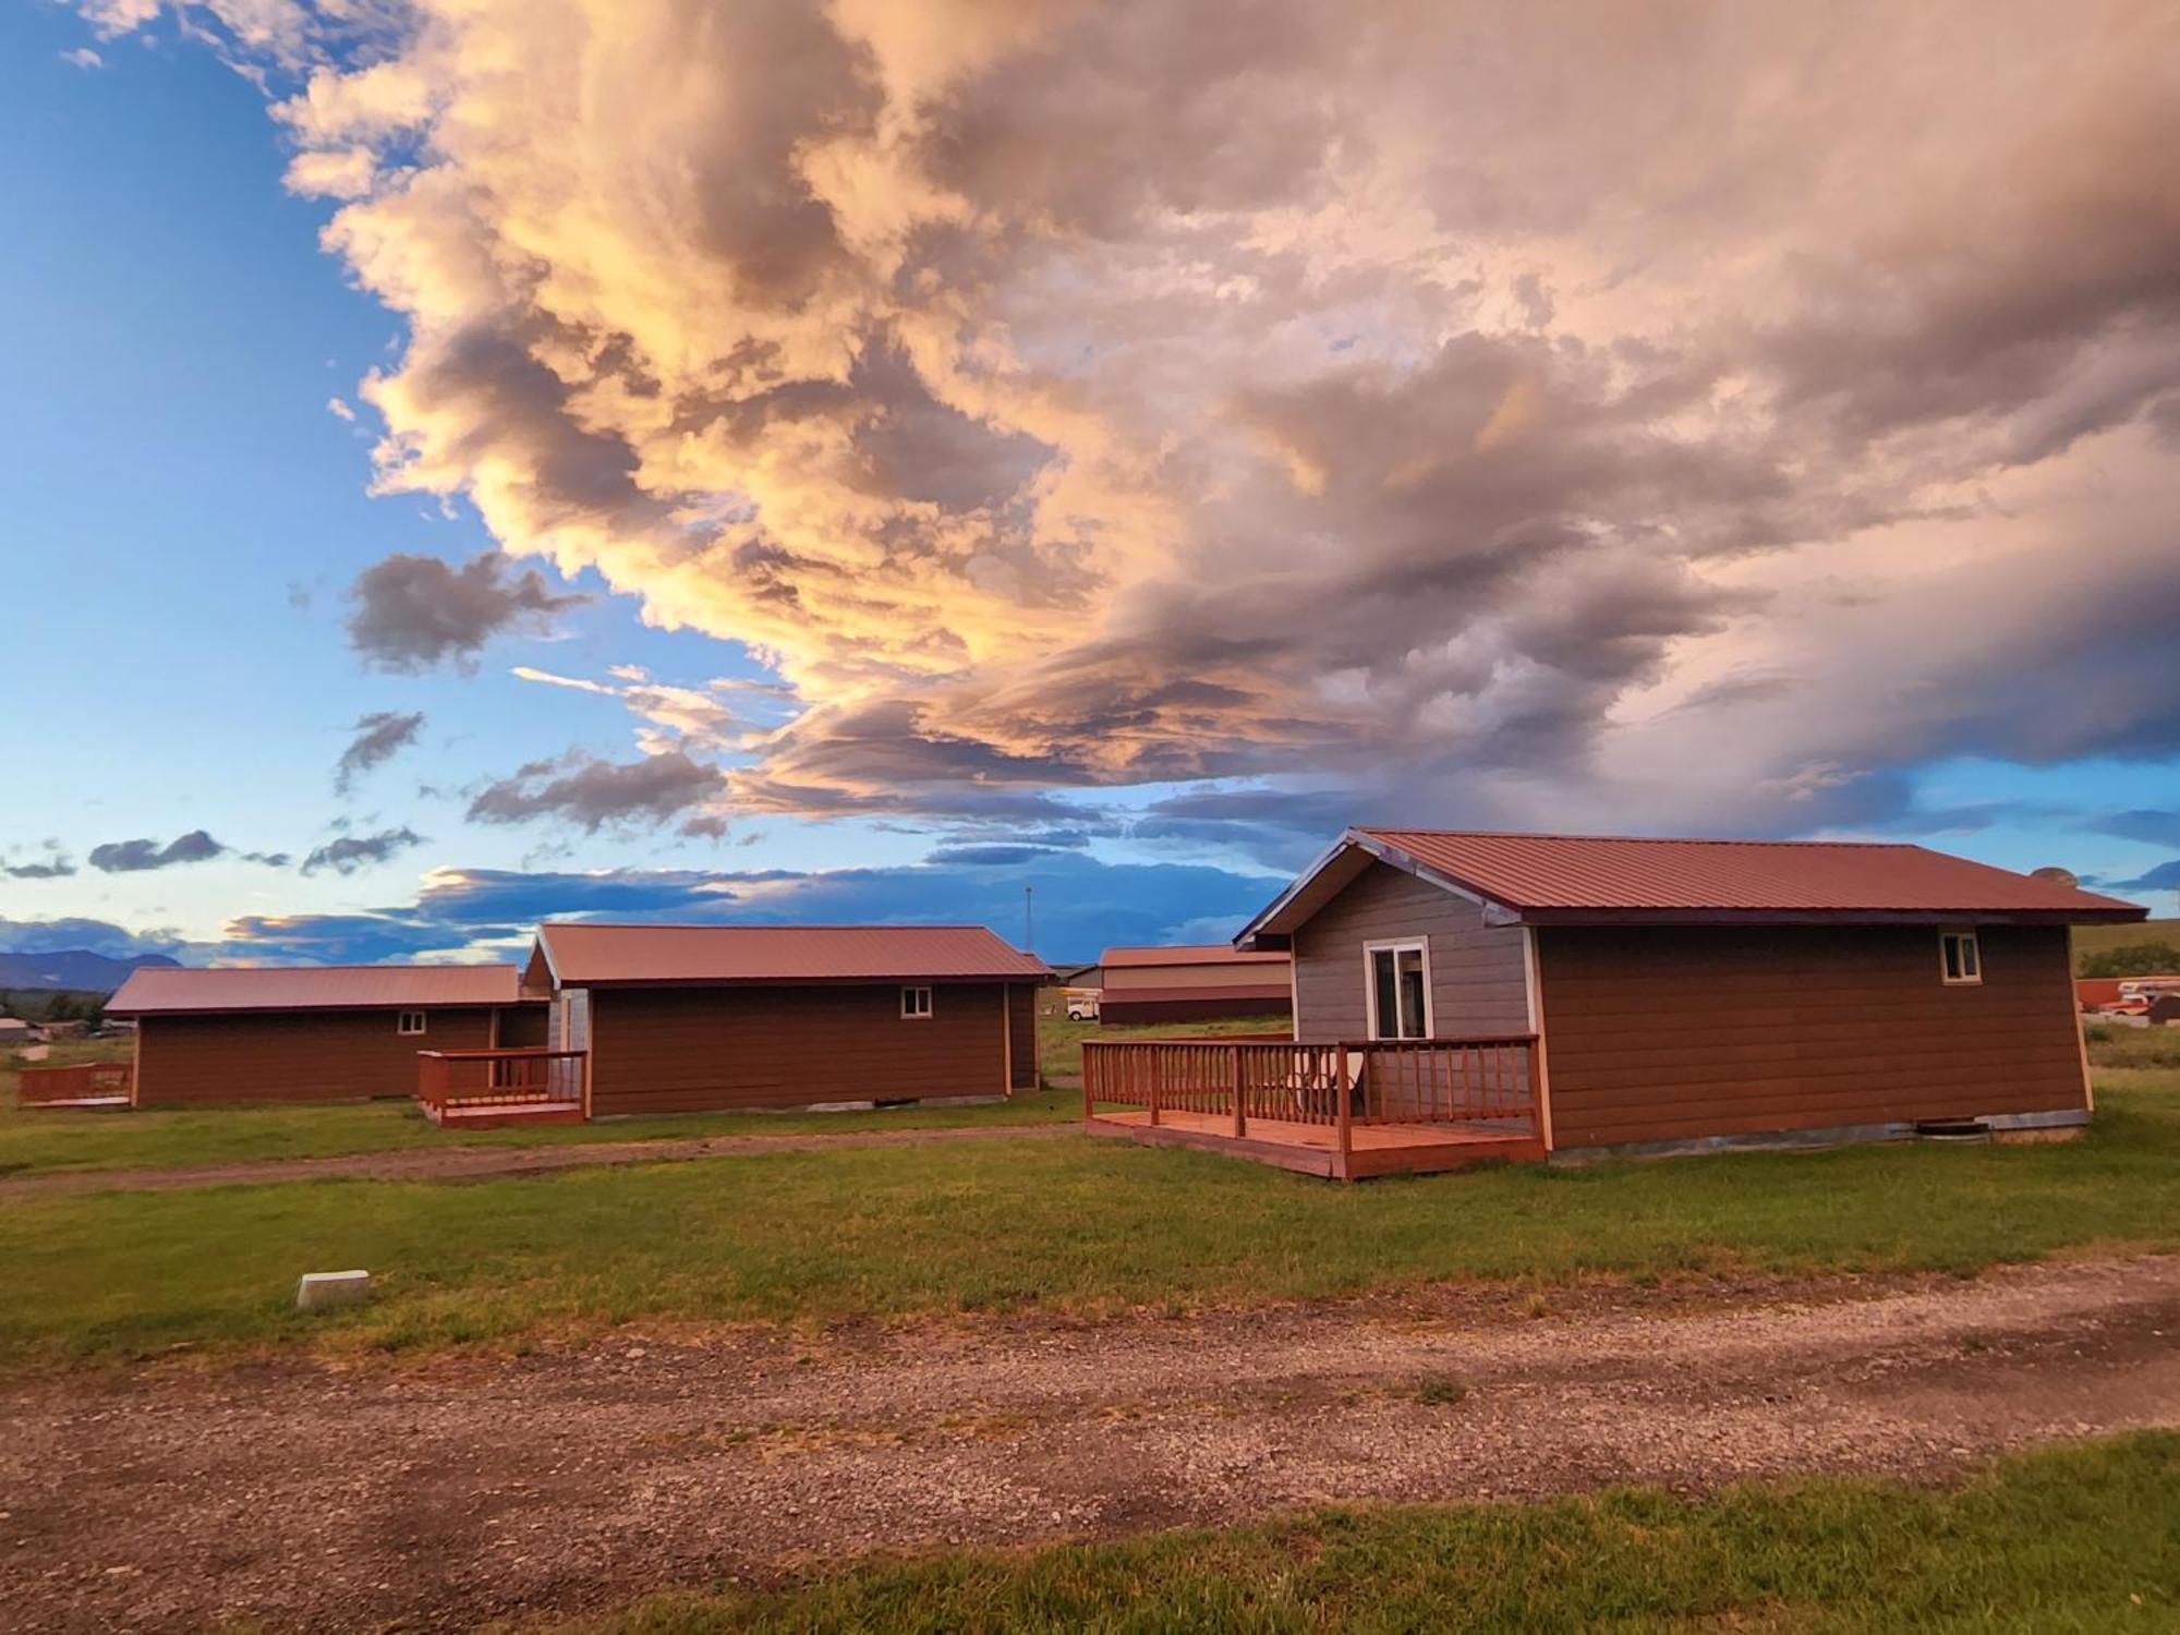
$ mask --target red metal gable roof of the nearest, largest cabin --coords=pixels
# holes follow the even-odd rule
[[[1495,924],[2117,924],[2149,913],[2058,881],[1890,841],[1349,828],[1243,929],[1236,946],[1293,933],[1373,861],[1476,898]]]

